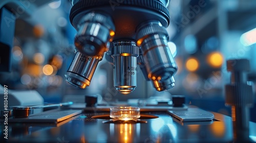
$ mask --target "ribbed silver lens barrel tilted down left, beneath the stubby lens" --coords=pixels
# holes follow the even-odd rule
[[[75,49],[75,53],[76,55],[65,77],[66,81],[71,85],[84,89],[90,85],[96,67],[99,61],[102,60],[102,56],[84,56],[77,49]]]

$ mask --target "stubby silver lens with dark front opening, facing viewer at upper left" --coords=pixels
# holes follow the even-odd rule
[[[115,26],[109,15],[87,13],[78,22],[75,46],[86,56],[101,56],[108,51],[106,43],[112,41]]]

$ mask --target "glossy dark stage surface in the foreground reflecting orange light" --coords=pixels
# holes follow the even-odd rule
[[[106,113],[85,113],[60,125],[10,124],[10,142],[231,142],[231,117],[214,113],[216,121],[178,123],[164,112],[141,124],[108,124],[91,118]],[[147,114],[147,113],[141,113]],[[3,126],[3,124],[1,124]],[[255,139],[256,124],[250,123]],[[254,140],[255,141],[255,140]]]

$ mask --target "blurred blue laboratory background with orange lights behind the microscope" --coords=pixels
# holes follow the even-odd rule
[[[168,45],[178,65],[175,87],[156,91],[138,69],[137,87],[125,95],[113,87],[113,65],[105,58],[86,89],[66,82],[65,73],[75,56],[76,30],[69,20],[71,7],[68,0],[61,0],[39,7],[29,17],[16,15],[12,67],[10,73],[0,73],[2,85],[13,90],[37,90],[45,102],[92,94],[104,102],[184,95],[188,105],[231,115],[225,106],[224,86],[230,83],[226,60],[245,58],[250,60],[249,84],[255,88],[254,0],[170,1],[171,23],[167,31]],[[254,122],[255,103],[250,119]]]

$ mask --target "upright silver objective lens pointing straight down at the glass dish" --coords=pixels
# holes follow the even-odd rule
[[[123,94],[131,93],[137,86],[137,57],[139,47],[135,41],[114,41],[114,86]]]

